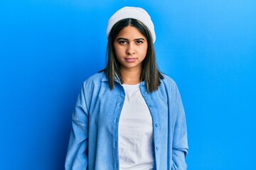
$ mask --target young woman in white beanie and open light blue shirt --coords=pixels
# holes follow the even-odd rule
[[[107,66],[78,96],[65,169],[186,169],[185,113],[175,82],[157,68],[149,14],[119,9],[107,38]]]

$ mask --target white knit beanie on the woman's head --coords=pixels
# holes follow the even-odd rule
[[[141,21],[144,25],[149,28],[151,33],[152,42],[156,41],[156,34],[154,32],[154,23],[151,21],[149,13],[147,13],[143,8],[125,6],[124,8],[119,9],[113,16],[111,16],[107,25],[107,38],[110,35],[110,30],[115,23],[121,21],[122,19],[133,18]]]

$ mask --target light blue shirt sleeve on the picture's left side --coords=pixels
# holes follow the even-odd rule
[[[82,87],[73,111],[72,129],[65,170],[87,169],[88,164],[88,115],[85,104],[85,91]]]

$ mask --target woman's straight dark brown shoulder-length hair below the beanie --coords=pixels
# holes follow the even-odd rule
[[[146,82],[146,90],[150,93],[158,89],[160,85],[160,79],[164,79],[164,77],[159,72],[159,69],[156,64],[156,55],[154,52],[154,45],[152,42],[151,34],[149,29],[146,26],[132,18],[123,19],[118,21],[110,30],[110,35],[107,42],[107,65],[104,69],[104,72],[109,79],[110,89],[114,89],[114,78],[117,77],[121,84],[123,84],[124,79],[122,77],[120,71],[120,63],[117,60],[116,55],[114,54],[114,39],[117,37],[122,28],[127,26],[134,26],[142,33],[148,42],[146,57],[142,62],[142,75],[141,81]]]

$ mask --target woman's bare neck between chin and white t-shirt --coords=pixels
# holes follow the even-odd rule
[[[142,69],[121,69],[124,84],[139,84],[141,82]]]

